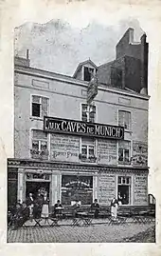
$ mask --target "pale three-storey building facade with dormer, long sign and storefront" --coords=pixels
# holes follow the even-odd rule
[[[126,34],[132,37],[132,29]],[[132,58],[132,69],[134,57],[125,49],[123,61]],[[120,54],[117,49],[115,63]],[[51,206],[58,199],[63,205],[75,200],[90,205],[95,198],[110,205],[118,192],[123,205],[148,205],[147,80],[138,72],[140,85],[132,89],[126,83],[135,71],[128,76],[127,64],[114,69],[114,62],[97,67],[84,61],[70,77],[31,68],[28,54],[15,57],[10,205],[43,188]],[[139,58],[135,62],[145,67]],[[95,91],[89,89],[93,85]]]

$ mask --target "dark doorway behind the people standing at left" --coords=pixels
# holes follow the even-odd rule
[[[26,198],[28,197],[29,193],[32,193],[33,199],[35,199],[39,189],[47,191],[47,196],[49,197],[49,185],[49,182],[26,182]]]

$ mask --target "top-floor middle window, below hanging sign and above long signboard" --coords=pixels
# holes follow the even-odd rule
[[[83,122],[94,123],[96,119],[96,106],[87,104],[81,105],[81,120]]]

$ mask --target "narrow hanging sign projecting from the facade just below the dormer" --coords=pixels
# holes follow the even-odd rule
[[[90,105],[98,94],[98,78],[95,76],[89,82],[87,89],[87,104]]]

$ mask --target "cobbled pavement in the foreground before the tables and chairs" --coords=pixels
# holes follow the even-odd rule
[[[105,220],[95,220],[91,226],[71,226],[68,220],[59,226],[33,226],[28,222],[27,227],[9,228],[8,243],[124,243],[150,228],[154,228],[154,223],[109,226]]]

